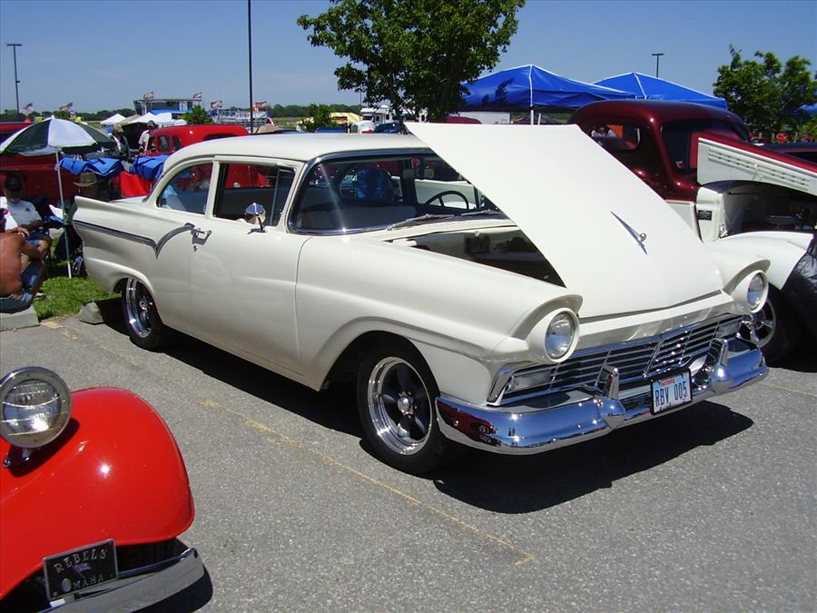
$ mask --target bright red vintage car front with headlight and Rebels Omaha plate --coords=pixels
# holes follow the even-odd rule
[[[147,402],[27,367],[0,411],[3,610],[135,610],[203,576],[176,540],[195,514],[184,460]]]

